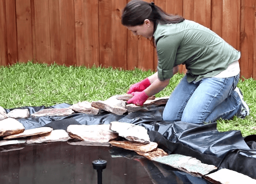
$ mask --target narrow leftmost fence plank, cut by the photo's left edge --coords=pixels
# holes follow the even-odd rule
[[[7,57],[6,1],[0,1],[0,64],[8,64]]]

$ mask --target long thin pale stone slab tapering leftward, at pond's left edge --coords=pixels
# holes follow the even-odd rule
[[[25,130],[23,133],[7,136],[7,137],[4,137],[4,139],[25,138],[25,137],[31,137],[31,136],[36,136],[36,135],[47,134],[52,131],[53,131],[53,129],[50,127],[40,127],[40,128],[36,128],[36,129]]]

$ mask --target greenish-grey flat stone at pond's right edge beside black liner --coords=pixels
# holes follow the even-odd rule
[[[200,160],[197,160],[196,158],[179,154],[157,157],[153,158],[152,160],[166,165],[170,165],[174,168],[187,172],[196,177],[201,177],[217,169],[217,167],[214,165],[204,164]]]

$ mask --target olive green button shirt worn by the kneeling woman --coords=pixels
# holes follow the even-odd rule
[[[161,81],[172,78],[173,67],[183,64],[187,69],[187,81],[197,82],[216,76],[240,58],[240,51],[210,29],[193,21],[158,24],[153,36]]]

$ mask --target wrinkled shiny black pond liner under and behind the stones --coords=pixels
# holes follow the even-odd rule
[[[63,103],[50,107],[21,107],[30,114],[45,108],[67,108]],[[12,109],[6,109],[9,112]],[[163,121],[164,106],[150,107],[147,111],[137,111],[116,115],[102,112],[97,115],[75,113],[68,116],[44,116],[18,119],[25,130],[38,127],[53,127],[66,130],[69,125],[110,124],[112,121],[128,122],[145,127],[150,140],[169,154],[195,157],[202,163],[227,168],[256,179],[256,135],[242,137],[240,131],[219,132],[217,124],[196,125],[182,121]],[[62,126],[60,126],[60,124]]]

